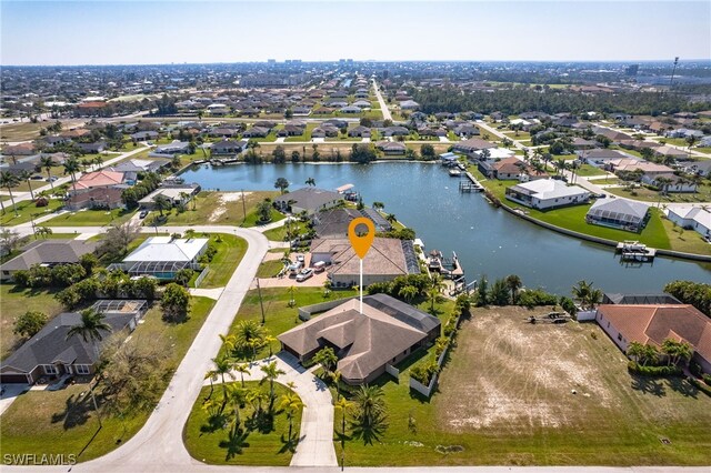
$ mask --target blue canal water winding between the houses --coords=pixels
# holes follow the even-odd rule
[[[415,230],[427,251],[447,255],[454,250],[467,280],[485,274],[491,281],[518,274],[528,288],[570,294],[579,280],[592,281],[607,292],[658,292],[668,281],[711,281],[710,265],[657,258],[652,264],[621,264],[612,249],[564,236],[492,208],[479,193],[462,194],[459,180],[432,163],[381,162],[360,164],[262,164],[194,167],[182,177],[203,189],[221,191],[271,190],[278,178],[290,189],[333,190],[352,183],[365,204],[385,204],[384,211]]]

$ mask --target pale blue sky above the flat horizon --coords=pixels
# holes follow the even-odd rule
[[[8,1],[1,64],[711,59],[710,1]]]

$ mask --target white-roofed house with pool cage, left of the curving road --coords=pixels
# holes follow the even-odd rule
[[[182,269],[200,269],[198,260],[208,250],[209,242],[207,238],[150,236],[121,263],[110,264],[108,269],[120,269],[131,276],[172,280]]]

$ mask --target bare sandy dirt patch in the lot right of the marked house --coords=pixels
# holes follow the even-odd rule
[[[470,368],[467,376],[442,373],[445,429],[525,433],[574,426],[583,423],[581,410],[612,406],[604,384],[591,382],[602,373],[581,350],[587,336],[582,326],[527,322],[544,312],[477,311],[463,325],[453,364],[468,360]]]

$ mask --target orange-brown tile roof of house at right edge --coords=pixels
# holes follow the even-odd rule
[[[595,321],[623,352],[632,342],[660,348],[664,340],[687,342],[692,360],[711,373],[711,319],[689,304],[599,305]]]

